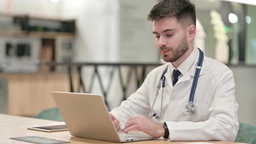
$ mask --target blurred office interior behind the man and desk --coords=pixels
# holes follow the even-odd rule
[[[239,121],[256,126],[256,6],[191,0],[196,46],[233,70]],[[56,107],[51,91],[120,105],[162,64],[147,16],[158,0],[0,0],[0,113]],[[216,68],[218,69],[218,68]]]

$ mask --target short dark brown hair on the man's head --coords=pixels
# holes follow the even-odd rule
[[[165,16],[173,16],[184,27],[196,26],[195,5],[189,0],[162,0],[148,14],[148,20],[157,21]]]

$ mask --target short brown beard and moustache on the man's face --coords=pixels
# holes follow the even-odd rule
[[[169,55],[162,55],[161,53],[162,50],[170,50]],[[186,36],[184,36],[184,38],[181,40],[181,43],[177,46],[176,49],[172,49],[164,46],[164,47],[160,47],[159,52],[164,62],[175,62],[178,59],[180,59],[181,56],[183,56],[187,52],[187,50],[188,50],[188,44],[187,44]]]

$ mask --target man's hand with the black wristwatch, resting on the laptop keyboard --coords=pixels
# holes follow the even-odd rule
[[[163,124],[158,124],[150,121],[144,116],[132,117],[125,124],[123,132],[128,133],[132,130],[140,130],[152,137],[163,137],[164,128]]]

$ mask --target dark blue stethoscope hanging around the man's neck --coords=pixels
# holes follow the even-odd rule
[[[197,81],[198,81],[198,78],[199,78],[199,74],[200,74],[200,71],[201,71],[202,64],[203,64],[203,51],[201,49],[199,49],[199,59],[198,59],[198,62],[197,62],[197,68],[196,68],[193,84],[192,84],[190,95],[189,95],[189,101],[187,102],[187,105],[185,107],[185,111],[189,115],[194,114],[194,112],[196,111],[196,108],[195,108],[195,105],[194,105],[193,101],[194,101],[194,95],[195,95],[196,88],[197,88]],[[156,117],[156,119],[160,119],[161,118],[162,105],[163,105],[163,96],[164,96],[164,87],[165,87],[165,76],[164,75],[167,72],[167,69],[168,69],[168,66],[164,70],[164,73],[162,74],[161,79],[158,82],[158,89],[157,89],[156,95],[154,96],[154,101],[153,101],[153,105],[151,106],[151,111],[149,113],[149,118],[152,118],[154,116]],[[156,99],[158,97],[158,93],[159,93],[159,90],[161,88],[161,85],[162,85],[162,98],[161,98],[160,115],[157,116],[155,113],[152,115],[152,111],[153,111]]]

